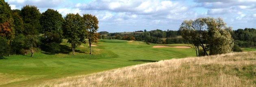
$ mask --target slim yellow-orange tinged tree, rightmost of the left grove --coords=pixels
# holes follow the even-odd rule
[[[89,39],[89,46],[90,46],[90,54],[91,53],[91,43],[92,42],[98,42],[98,19],[96,16],[91,14],[85,14],[83,15],[83,19],[85,21],[85,26],[88,31],[87,38]]]

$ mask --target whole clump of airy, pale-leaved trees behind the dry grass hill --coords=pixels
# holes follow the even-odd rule
[[[197,56],[229,53],[234,47],[230,34],[232,28],[227,27],[221,18],[184,20],[180,31],[182,37],[194,46]]]

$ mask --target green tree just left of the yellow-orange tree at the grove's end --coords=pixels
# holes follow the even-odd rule
[[[69,13],[64,17],[64,20],[63,36],[68,40],[67,42],[71,43],[73,55],[75,55],[75,47],[85,42],[85,23],[78,13],[76,15]]]

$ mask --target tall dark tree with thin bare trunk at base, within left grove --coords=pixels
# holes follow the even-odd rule
[[[41,13],[36,6],[26,5],[22,8],[20,16],[24,21],[24,35],[26,36],[27,45],[30,47],[31,56],[33,57],[33,47],[37,46],[41,25],[39,23]]]

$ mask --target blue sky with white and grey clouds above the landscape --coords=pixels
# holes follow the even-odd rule
[[[256,0],[6,0],[12,9],[35,5],[67,13],[93,14],[99,31],[178,30],[185,19],[221,17],[234,30],[256,28]]]

